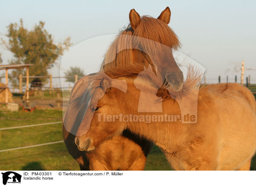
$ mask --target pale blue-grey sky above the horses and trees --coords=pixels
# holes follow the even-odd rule
[[[219,75],[223,81],[227,75],[230,81],[234,81],[235,75],[240,78],[240,72],[226,73],[229,68],[233,70],[231,63],[244,60],[245,68],[256,69],[256,1],[252,0],[0,0],[0,37],[7,32],[6,26],[18,23],[20,18],[28,29],[42,20],[54,41],[61,43],[70,36],[75,46],[95,36],[116,35],[129,23],[130,9],[140,15],[158,17],[166,6],[172,12],[169,26],[182,44],[179,51],[206,67],[209,83],[217,82]],[[102,51],[105,45],[108,43],[102,44]],[[0,52],[6,64],[12,54],[3,47]],[[100,63],[92,63],[92,69],[97,69]],[[64,69],[68,69],[73,63],[65,65]],[[50,73],[57,76],[58,68]],[[248,75],[256,83],[256,70],[245,71],[245,76]]]

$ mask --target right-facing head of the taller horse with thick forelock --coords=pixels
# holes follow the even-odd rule
[[[151,55],[151,60],[156,64],[156,68],[167,81],[170,89],[180,91],[183,86],[183,73],[172,55],[172,48],[177,49],[180,42],[168,26],[170,17],[171,11],[169,7],[166,7],[157,19],[146,16],[140,17],[134,9],[129,14],[130,25],[134,30],[134,35],[157,42],[149,42],[155,46],[155,49],[153,51],[148,50],[146,53]]]

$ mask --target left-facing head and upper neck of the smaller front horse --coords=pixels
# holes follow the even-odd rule
[[[128,123],[132,122],[131,117],[139,116],[139,104],[143,108],[159,105],[160,99],[156,94],[162,78],[156,76],[151,67],[137,74],[127,68],[116,68],[109,73],[114,78],[99,76],[98,82],[90,84],[96,89],[91,91],[87,111],[83,120],[79,120],[81,124],[75,138],[81,151],[94,150],[106,139],[122,134]],[[147,100],[152,100],[153,105],[148,104]]]

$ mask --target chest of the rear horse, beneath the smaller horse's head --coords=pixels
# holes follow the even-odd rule
[[[129,131],[114,136],[100,144],[94,151],[80,151],[73,134],[63,127],[64,142],[70,155],[79,163],[80,169],[90,171],[143,171],[152,143]]]

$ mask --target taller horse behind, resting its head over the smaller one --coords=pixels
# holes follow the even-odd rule
[[[171,12],[169,7],[167,7],[157,19],[146,16],[141,18],[140,15],[132,9],[129,14],[130,26],[122,31],[109,47],[102,63],[101,71],[108,71],[116,67],[126,66],[128,68],[137,67],[137,70],[140,72],[144,70],[145,66],[151,65],[155,72],[161,73],[163,79],[169,84],[169,88],[174,91],[179,91],[183,85],[183,73],[180,71],[173,58],[172,48],[177,49],[180,43],[175,33],[167,25],[170,21],[170,16]],[[85,90],[78,91],[82,92],[80,97],[76,95],[76,91],[73,90],[74,95],[76,95],[81,102],[88,92]],[[72,102],[70,102],[70,104],[71,103]],[[86,133],[86,130],[77,130],[77,126],[79,126],[84,119],[84,113],[87,109],[86,104],[88,104],[88,102],[83,104],[79,105],[79,102],[76,100],[75,104],[69,107],[70,109],[66,113],[67,117],[65,117],[63,125],[65,143],[70,154],[79,162],[80,168],[88,169],[88,165],[90,164],[91,170],[102,170],[103,166],[104,169],[115,170],[117,167],[116,165],[119,164],[118,169],[144,169],[145,157],[149,153],[152,144],[145,139],[135,137],[134,134],[131,134],[129,131],[125,131],[125,137],[123,134],[122,136],[109,139],[108,142],[97,145],[96,150],[94,150],[94,148],[86,147],[79,148],[81,151],[94,150],[90,154],[78,151],[74,146],[75,135],[79,136],[79,134]],[[75,109],[76,111],[74,111]],[[85,118],[88,119],[87,117]],[[90,118],[88,120],[90,121]],[[120,144],[117,143],[118,140],[120,141],[119,143],[125,144],[122,148],[120,148]],[[76,141],[76,143],[79,146],[78,141]],[[116,146],[113,146],[113,144]],[[130,153],[128,153],[128,151],[130,151]],[[122,163],[120,163],[120,158],[113,158],[116,160],[116,162],[114,162],[115,165],[110,163],[111,154],[123,155],[125,153],[130,154],[130,156],[126,156],[127,159],[122,160]],[[106,156],[103,157],[101,154],[106,154]],[[97,166],[91,166],[93,162],[97,162],[97,160],[93,160],[93,157],[98,158],[98,160],[103,160],[105,165],[108,163],[108,168],[106,168],[107,166],[104,165],[104,162],[102,165],[94,163],[94,165]],[[141,163],[137,163],[137,159],[140,160]],[[128,163],[129,166],[127,166],[127,162],[131,162],[132,164]],[[134,164],[137,166],[134,166]],[[120,166],[123,166],[123,168]]]

